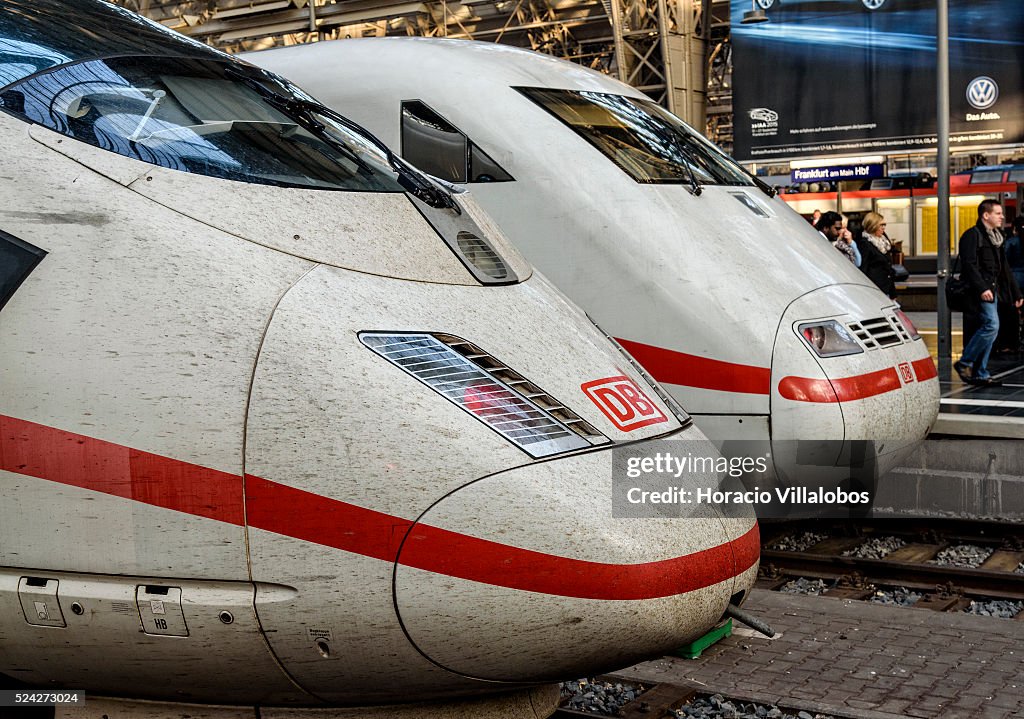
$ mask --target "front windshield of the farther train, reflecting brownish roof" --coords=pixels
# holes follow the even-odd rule
[[[585,90],[516,89],[637,182],[754,184],[725,153],[651,100]]]

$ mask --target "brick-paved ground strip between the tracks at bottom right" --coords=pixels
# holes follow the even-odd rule
[[[763,589],[743,608],[775,637],[738,628],[615,674],[852,719],[1024,717],[1024,621]]]

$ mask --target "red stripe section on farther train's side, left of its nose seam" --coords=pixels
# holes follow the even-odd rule
[[[767,367],[711,360],[631,340],[615,341],[658,382],[723,392],[771,392],[771,369]]]

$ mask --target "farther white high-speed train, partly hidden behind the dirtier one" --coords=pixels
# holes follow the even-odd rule
[[[421,169],[468,184],[706,434],[770,438],[777,478],[812,465],[840,477],[872,459],[884,473],[934,423],[936,369],[897,304],[640,91],[547,55],[458,40],[245,56]],[[851,453],[850,440],[870,443]]]

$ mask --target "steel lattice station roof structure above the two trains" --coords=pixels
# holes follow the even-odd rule
[[[356,37],[499,42],[608,73],[726,150],[728,0],[114,0],[228,52]]]

